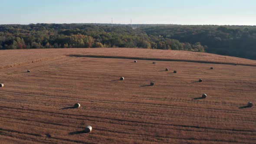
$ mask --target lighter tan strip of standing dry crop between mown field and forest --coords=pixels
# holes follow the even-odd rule
[[[220,56],[203,52],[187,52],[160,49],[132,49],[132,48],[97,48],[97,49],[21,49],[1,50],[0,69],[23,65],[33,62],[61,59],[65,56],[91,56],[130,59],[152,59],[170,61],[191,61],[228,63],[238,65],[254,65],[255,60],[241,59],[230,56]]]

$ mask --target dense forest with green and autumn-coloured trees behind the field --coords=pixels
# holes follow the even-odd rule
[[[0,49],[130,47],[256,59],[256,26],[0,25]]]

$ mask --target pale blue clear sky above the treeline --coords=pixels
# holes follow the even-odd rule
[[[256,25],[256,0],[0,0],[0,24]]]

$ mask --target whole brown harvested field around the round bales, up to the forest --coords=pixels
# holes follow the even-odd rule
[[[47,50],[28,50],[43,51],[31,56],[29,60],[42,59],[33,63],[16,60],[23,57],[19,50],[0,51],[0,56],[9,52],[0,69],[3,143],[256,143],[256,109],[246,108],[248,101],[256,101],[255,66],[173,61],[152,65],[152,60],[77,57],[97,49]],[[146,59],[148,49],[143,50]],[[171,72],[163,70],[167,67]],[[207,98],[201,98],[203,93]],[[77,102],[81,107],[73,108]],[[84,133],[88,125],[93,130]]]

